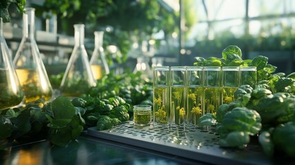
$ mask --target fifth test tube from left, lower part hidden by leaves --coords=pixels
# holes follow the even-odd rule
[[[234,91],[239,88],[239,67],[222,67],[222,104],[234,101]]]

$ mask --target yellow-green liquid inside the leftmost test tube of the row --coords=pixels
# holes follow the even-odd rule
[[[153,122],[157,124],[168,124],[168,87],[153,87]]]

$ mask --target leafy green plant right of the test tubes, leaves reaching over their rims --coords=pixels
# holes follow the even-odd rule
[[[240,61],[240,54],[237,46],[230,46],[223,50],[223,58],[196,58],[195,65],[220,61],[220,66],[227,66],[231,65],[230,61]],[[240,61],[240,65],[257,68],[258,82],[252,87],[241,85],[234,92],[233,102],[221,104],[216,115],[206,114],[198,124],[206,126],[217,121],[220,146],[243,148],[250,143],[250,136],[259,135],[259,143],[267,156],[283,152],[295,157],[294,146],[289,145],[294,139],[295,74],[274,74],[276,67],[267,61],[265,56]]]

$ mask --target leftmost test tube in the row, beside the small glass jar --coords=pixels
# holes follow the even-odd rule
[[[153,67],[153,124],[168,124],[169,67]]]

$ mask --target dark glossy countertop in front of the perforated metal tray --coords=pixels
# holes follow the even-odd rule
[[[66,147],[52,146],[48,140],[14,144],[0,151],[0,164],[206,164],[175,155],[91,137],[83,133]]]

